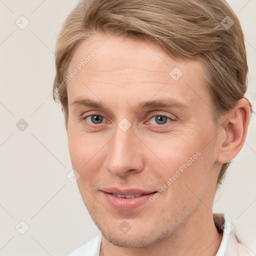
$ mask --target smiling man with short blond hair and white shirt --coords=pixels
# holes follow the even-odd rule
[[[216,189],[250,103],[223,0],[89,0],[57,41],[53,97],[98,235],[69,255],[249,255]]]

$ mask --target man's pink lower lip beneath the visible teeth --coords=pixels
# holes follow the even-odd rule
[[[103,192],[103,194],[112,207],[119,210],[132,210],[146,203],[149,200],[149,197],[154,193],[144,194],[133,198],[119,198],[106,192]]]

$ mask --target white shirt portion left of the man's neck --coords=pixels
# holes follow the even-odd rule
[[[90,239],[89,241],[85,242],[72,252],[70,252],[67,256],[96,256],[99,255],[101,243],[101,234],[98,234],[94,238]]]

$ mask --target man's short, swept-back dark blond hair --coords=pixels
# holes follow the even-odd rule
[[[62,105],[66,129],[68,99],[63,80],[77,46],[97,32],[157,43],[177,58],[203,60],[214,116],[245,98],[244,35],[224,0],[81,0],[62,25],[55,50],[52,96]],[[222,164],[216,189],[228,165]]]

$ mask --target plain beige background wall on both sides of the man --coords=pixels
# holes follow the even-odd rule
[[[46,98],[55,74],[56,36],[76,3],[77,0],[0,0],[3,256],[66,255],[99,233],[76,183],[66,177],[72,167],[60,105]],[[256,1],[228,3],[245,34],[249,65],[246,95],[255,110]],[[256,118],[252,115],[243,149],[228,169],[213,211],[225,212],[231,218],[234,230],[256,255],[255,128]]]

